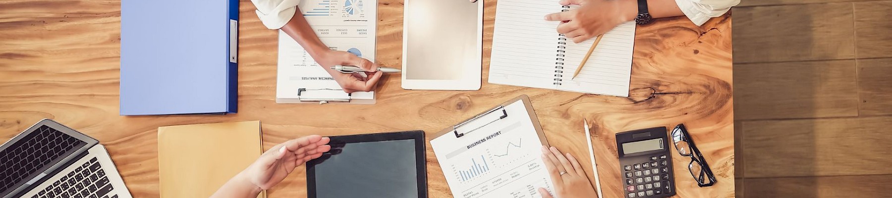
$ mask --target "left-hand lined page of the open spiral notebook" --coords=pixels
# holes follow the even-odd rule
[[[556,89],[558,0],[499,0],[492,35],[490,79],[493,84]]]

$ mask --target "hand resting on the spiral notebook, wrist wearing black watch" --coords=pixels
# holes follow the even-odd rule
[[[558,33],[574,43],[607,33],[638,14],[638,4],[632,0],[561,0],[560,4],[582,5],[572,11],[545,15],[546,21],[564,21],[558,25]]]

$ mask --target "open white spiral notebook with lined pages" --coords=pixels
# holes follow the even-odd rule
[[[500,0],[492,36],[492,84],[548,88],[597,95],[629,96],[635,22],[608,31],[576,78],[594,38],[573,43],[558,34],[559,21],[545,21],[562,6],[558,0]]]

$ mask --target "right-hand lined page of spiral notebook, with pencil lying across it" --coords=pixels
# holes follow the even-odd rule
[[[578,44],[567,42],[564,75],[561,77],[558,90],[629,96],[635,22],[625,22],[605,33],[603,37],[595,47],[595,51],[591,53],[589,61],[585,62],[585,66],[574,79],[570,78],[573,78],[573,72],[579,67],[595,38]]]

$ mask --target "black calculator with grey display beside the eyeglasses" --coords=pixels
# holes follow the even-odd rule
[[[644,128],[616,134],[627,198],[675,195],[672,153],[666,128]]]

